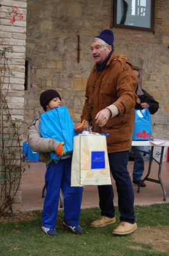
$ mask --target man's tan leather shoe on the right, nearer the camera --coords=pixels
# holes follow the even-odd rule
[[[136,228],[137,228],[136,223],[131,224],[131,223],[128,223],[128,222],[121,221],[119,226],[117,228],[115,228],[115,230],[113,231],[113,234],[115,234],[115,235],[128,235],[131,232],[135,231]]]

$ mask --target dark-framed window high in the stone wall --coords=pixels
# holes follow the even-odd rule
[[[155,0],[114,0],[115,28],[154,31]]]

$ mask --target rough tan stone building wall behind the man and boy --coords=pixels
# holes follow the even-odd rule
[[[112,28],[112,0],[27,0],[26,58],[31,61],[31,80],[25,91],[25,134],[36,110],[42,111],[40,93],[50,88],[61,94],[74,122],[80,122],[85,84],[94,64],[91,40],[111,28],[115,51],[142,70],[142,87],[159,101],[159,111],[152,116],[154,138],[168,139],[168,16],[168,0],[156,0],[152,33]]]

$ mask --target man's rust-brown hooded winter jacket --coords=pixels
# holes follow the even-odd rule
[[[120,152],[131,148],[131,138],[135,122],[135,94],[136,78],[133,67],[125,56],[117,56],[113,52],[106,67],[96,71],[96,64],[92,68],[87,81],[85,104],[82,111],[82,120],[87,120],[95,127],[95,117],[99,111],[114,104],[119,109],[119,115],[110,118],[103,127],[107,136],[108,153]],[[102,129],[96,125],[96,132]]]

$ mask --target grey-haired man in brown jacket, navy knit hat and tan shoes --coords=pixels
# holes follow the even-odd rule
[[[114,33],[103,30],[91,44],[95,65],[87,81],[82,120],[85,129],[108,133],[107,148],[110,171],[115,179],[119,198],[120,225],[113,234],[126,235],[136,229],[133,185],[127,164],[131,148],[136,104],[136,79],[131,64],[114,52]],[[123,56],[124,57],[124,56]],[[91,223],[103,227],[115,222],[114,191],[112,185],[98,186],[101,217]]]

